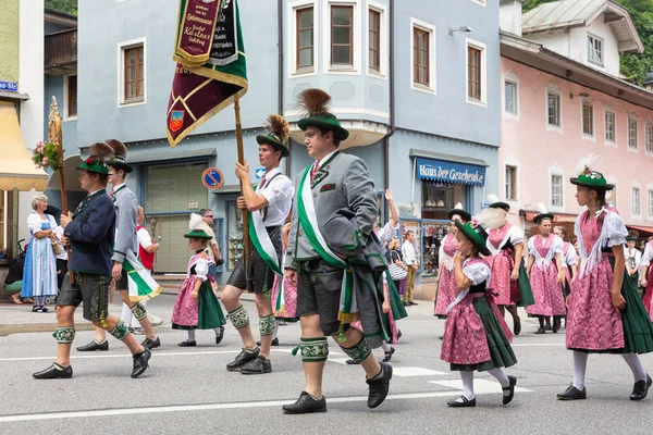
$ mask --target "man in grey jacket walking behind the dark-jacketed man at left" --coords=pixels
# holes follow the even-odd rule
[[[136,235],[136,196],[125,184],[127,174],[133,167],[126,163],[127,149],[123,142],[116,139],[108,139],[107,144],[113,149],[114,156],[108,161],[109,183],[112,189],[109,196],[115,204],[115,245],[113,248],[113,268],[111,275],[115,279],[115,288],[120,291],[123,303],[130,307],[130,310],[136,320],[143,326],[145,340],[141,345],[148,349],[155,349],[161,346],[161,340],[157,337],[155,328],[147,316],[145,304],[138,299],[153,298],[161,293],[156,282],[136,258],[138,252],[138,239]],[[127,272],[132,273],[132,286],[138,288],[135,295],[130,295],[130,283],[127,282]],[[131,297],[132,296],[132,297]],[[133,300],[137,299],[137,300]],[[77,348],[78,351],[108,350],[109,343],[104,330],[96,327],[96,338],[85,346]]]

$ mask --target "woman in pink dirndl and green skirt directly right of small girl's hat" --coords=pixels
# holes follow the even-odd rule
[[[507,214],[510,206],[498,201],[496,196],[489,196],[489,208],[479,215],[479,221],[488,231],[490,256],[485,258],[492,271],[490,287],[495,294],[495,301],[502,315],[505,311],[513,316],[513,332],[521,333],[521,320],[517,307],[534,303],[530,282],[523,268],[523,232],[510,224]]]

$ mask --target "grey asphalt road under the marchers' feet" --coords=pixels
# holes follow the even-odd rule
[[[148,307],[167,320],[173,302],[173,297],[162,295]],[[502,406],[498,384],[481,374],[476,382],[477,408],[447,408],[446,401],[460,395],[461,385],[439,358],[436,337],[443,323],[431,315],[430,306],[411,307],[410,318],[401,322],[404,336],[393,358],[391,396],[377,410],[366,407],[362,371],[344,364],[345,356],[331,343],[324,381],[329,412],[316,415],[281,412],[281,405],[294,401],[303,387],[299,357],[291,355],[298,344],[296,324],[281,327],[282,346],[272,353],[274,372],[264,376],[225,371],[239,351],[231,325],[220,346],[211,332],[202,331],[197,333],[198,347],[180,348],[176,343],[185,333],[163,323],[158,328],[163,346],[138,380],[128,377],[128,352],[112,338],[108,352],[73,352],[73,380],[35,381],[32,373],[49,365],[56,355],[51,335],[0,337],[0,433],[651,433],[653,396],[642,402],[628,400],[632,380],[619,357],[590,358],[588,400],[555,400],[571,380],[570,353],[562,333],[537,336],[532,321],[525,322],[522,335],[515,339],[519,363],[508,372],[517,376],[520,389],[513,403]],[[246,308],[256,324],[254,303],[246,302]],[[79,332],[75,345],[91,338],[93,332]],[[644,356],[643,362],[653,372],[653,357]]]

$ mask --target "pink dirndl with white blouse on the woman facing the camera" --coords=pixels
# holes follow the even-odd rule
[[[565,297],[557,282],[557,268],[554,263],[555,254],[562,251],[562,239],[552,234],[546,238],[538,235],[530,238],[528,247],[529,254],[535,258],[530,272],[535,304],[527,307],[526,311],[532,315],[565,315]]]

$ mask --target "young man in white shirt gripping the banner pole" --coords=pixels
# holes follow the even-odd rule
[[[274,284],[274,274],[282,274],[281,228],[291,211],[293,200],[293,183],[279,169],[281,159],[291,154],[286,145],[288,123],[281,115],[270,115],[268,122],[269,134],[256,137],[259,144],[259,163],[266,167],[266,175],[256,190],[249,182],[247,163],[236,163],[236,176],[241,178],[243,186],[243,196],[238,198],[237,207],[251,213],[249,237],[254,249],[249,250],[247,262],[245,257],[238,259],[226,287],[222,290],[222,303],[243,340],[243,351],[226,364],[226,370],[241,371],[243,374],[272,372],[270,345],[274,333],[274,315],[270,291]],[[245,270],[246,266],[248,271]],[[239,300],[245,290],[256,294],[260,348],[256,346],[251,334],[249,314]]]

